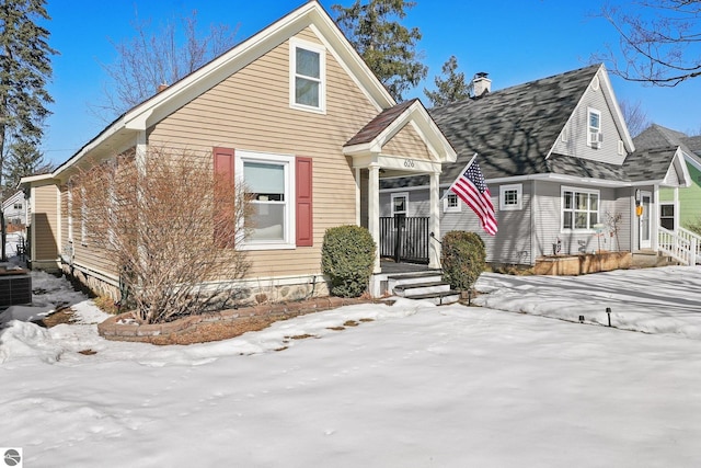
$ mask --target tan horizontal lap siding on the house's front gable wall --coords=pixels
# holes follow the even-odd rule
[[[297,37],[321,44],[309,30]],[[312,158],[313,247],[249,251],[251,277],[307,275],[321,270],[324,231],[356,222],[354,171],[342,149],[377,114],[329,50],[325,115],[290,109],[286,42],[157,124],[149,144]]]

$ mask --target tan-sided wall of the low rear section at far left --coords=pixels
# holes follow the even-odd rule
[[[55,260],[58,258],[58,189],[43,185],[34,189],[34,213],[32,236],[34,237],[33,260]]]

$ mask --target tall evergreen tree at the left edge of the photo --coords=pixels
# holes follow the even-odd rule
[[[48,45],[50,33],[38,23],[48,20],[45,0],[0,0],[0,174],[5,172],[8,140],[36,147],[44,133],[47,105],[53,102],[46,84],[56,50]],[[4,260],[1,212],[0,222]]]

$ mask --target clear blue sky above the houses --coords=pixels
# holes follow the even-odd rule
[[[115,60],[110,39],[122,42],[134,35],[130,22],[154,23],[198,12],[202,27],[226,23],[238,27],[237,42],[261,31],[304,0],[49,0],[50,45],[60,52],[54,57],[51,106],[43,151],[47,160],[62,162],[105,126],[90,104],[100,101],[107,77],[100,62]],[[352,0],[322,0],[348,5]],[[498,90],[561,73],[589,64],[593,53],[618,36],[604,19],[596,18],[599,1],[562,0],[416,0],[403,24],[416,26],[423,38],[418,50],[429,67],[428,77],[407,98],[421,98],[424,87],[443,64],[455,55],[459,70],[471,78],[486,71],[492,90]],[[630,0],[618,0],[623,5]],[[687,133],[701,132],[701,78],[676,88],[654,88],[611,77],[620,100],[642,103],[647,117],[657,124]]]

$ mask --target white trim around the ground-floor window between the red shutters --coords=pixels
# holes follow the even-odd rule
[[[237,150],[234,158],[234,174],[237,183],[245,183],[243,179],[243,163],[245,161],[254,162],[274,162],[285,165],[285,239],[283,241],[273,240],[249,240],[245,239],[241,244],[241,250],[284,250],[296,249],[296,218],[295,218],[295,157],[291,155],[274,155],[257,151]]]

